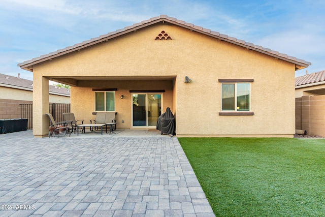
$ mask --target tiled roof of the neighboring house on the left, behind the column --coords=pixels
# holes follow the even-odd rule
[[[0,86],[32,91],[33,82],[27,79],[0,74]],[[70,89],[49,85],[50,94],[70,97]]]

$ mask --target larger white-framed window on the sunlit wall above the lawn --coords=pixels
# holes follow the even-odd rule
[[[250,111],[250,83],[221,84],[222,111]]]

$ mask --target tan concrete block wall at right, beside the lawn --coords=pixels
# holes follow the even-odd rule
[[[325,137],[325,95],[296,98],[296,129]]]

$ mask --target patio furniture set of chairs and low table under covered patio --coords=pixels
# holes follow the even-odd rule
[[[52,114],[46,113],[49,117],[51,125],[49,127],[49,138],[58,136],[70,136],[72,132],[77,131],[79,136],[79,129],[85,133],[85,128],[89,127],[90,133],[101,129],[103,135],[103,127],[110,128],[110,134],[116,130],[115,112],[97,112],[96,119],[90,120],[90,123],[84,123],[84,120],[76,120],[74,113],[62,113],[64,121],[56,122]]]

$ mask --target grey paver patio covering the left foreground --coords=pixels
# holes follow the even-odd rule
[[[215,216],[175,137],[0,139],[0,216]]]

